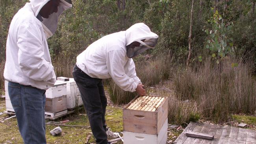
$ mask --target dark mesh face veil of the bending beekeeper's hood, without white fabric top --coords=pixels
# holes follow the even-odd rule
[[[137,40],[137,42],[140,43],[139,46],[135,46],[134,48],[127,48],[126,49],[126,55],[129,58],[135,57],[143,52],[145,52],[146,50],[150,49],[150,48],[154,48],[157,44],[158,38],[148,38],[145,39],[145,41],[141,41],[141,40]]]

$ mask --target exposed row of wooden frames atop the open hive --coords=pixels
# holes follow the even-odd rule
[[[138,111],[156,111],[164,100],[165,97],[161,96],[139,96],[126,109]]]

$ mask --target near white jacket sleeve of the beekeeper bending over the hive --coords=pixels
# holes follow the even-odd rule
[[[125,54],[122,50],[111,50],[107,53],[107,67],[111,78],[121,89],[134,92],[137,83],[125,73],[125,63]]]

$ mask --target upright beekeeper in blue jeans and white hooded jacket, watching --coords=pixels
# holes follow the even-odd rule
[[[56,81],[47,39],[71,0],[30,0],[11,21],[4,78],[25,144],[46,144],[45,90]]]

